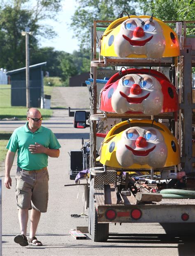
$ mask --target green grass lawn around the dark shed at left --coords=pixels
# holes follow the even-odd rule
[[[46,86],[44,88],[44,94],[51,95],[52,90],[52,87]],[[11,85],[0,85],[0,92],[0,119],[17,117],[20,120],[25,120],[27,108],[24,106],[11,106]],[[52,115],[51,109],[40,109],[40,111],[44,119],[48,119]]]

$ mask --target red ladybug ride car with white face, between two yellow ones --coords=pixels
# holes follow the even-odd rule
[[[100,95],[100,110],[111,113],[158,115],[179,110],[176,88],[165,75],[147,68],[115,74]]]

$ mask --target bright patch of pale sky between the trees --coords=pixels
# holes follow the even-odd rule
[[[45,20],[44,23],[53,26],[53,30],[58,33],[56,38],[46,40],[42,38],[39,41],[40,47],[54,47],[58,51],[72,53],[74,50],[79,50],[76,38],[72,38],[74,33],[69,28],[68,24],[71,23],[71,16],[74,14],[76,1],[63,0],[63,10],[58,13],[58,22]]]

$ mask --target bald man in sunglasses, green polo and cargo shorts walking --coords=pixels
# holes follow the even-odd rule
[[[18,151],[16,201],[21,234],[14,237],[14,242],[21,246],[42,246],[42,242],[36,238],[36,231],[41,212],[47,211],[48,156],[60,155],[61,146],[53,132],[42,126],[42,119],[37,108],[29,108],[26,124],[14,130],[6,147],[8,151],[5,160],[5,186],[8,189],[12,186],[10,171]],[[28,210],[31,210],[31,213],[30,234],[27,239]]]

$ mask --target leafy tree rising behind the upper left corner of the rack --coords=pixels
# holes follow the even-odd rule
[[[76,0],[77,9],[72,16],[71,29],[81,47],[90,48],[93,20],[113,20],[123,12],[135,14],[134,2],[130,0]]]

